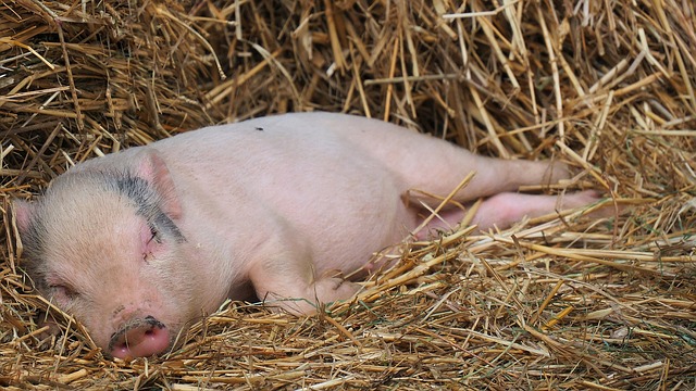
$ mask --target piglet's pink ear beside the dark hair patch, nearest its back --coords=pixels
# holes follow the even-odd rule
[[[140,153],[137,163],[137,175],[146,179],[160,195],[160,207],[172,219],[182,216],[182,205],[176,194],[174,181],[166,163],[154,150],[145,150]]]

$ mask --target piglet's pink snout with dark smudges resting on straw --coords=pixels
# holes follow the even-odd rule
[[[109,342],[109,353],[119,358],[147,357],[164,352],[170,346],[170,331],[153,318],[133,319],[115,332]]]

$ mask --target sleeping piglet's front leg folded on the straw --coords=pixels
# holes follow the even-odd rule
[[[360,286],[336,276],[316,275],[314,263],[300,254],[284,254],[252,266],[249,277],[265,305],[294,315],[311,315],[320,305],[352,297]]]

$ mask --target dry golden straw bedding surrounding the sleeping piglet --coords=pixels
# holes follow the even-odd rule
[[[696,388],[695,11],[686,0],[3,1],[0,384]],[[302,319],[231,303],[161,358],[105,361],[54,308],[63,331],[42,333],[49,304],[21,272],[11,197],[127,146],[308,110],[561,159],[577,173],[563,187],[599,188],[623,210],[400,245],[402,262],[351,303]]]

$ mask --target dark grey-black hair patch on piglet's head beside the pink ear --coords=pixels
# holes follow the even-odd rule
[[[116,179],[115,184],[117,191],[136,204],[137,213],[145,217],[151,229],[154,228],[157,231],[174,238],[177,243],[186,241],[176,224],[162,212],[160,207],[161,195],[157,193],[147,180],[126,175]]]

